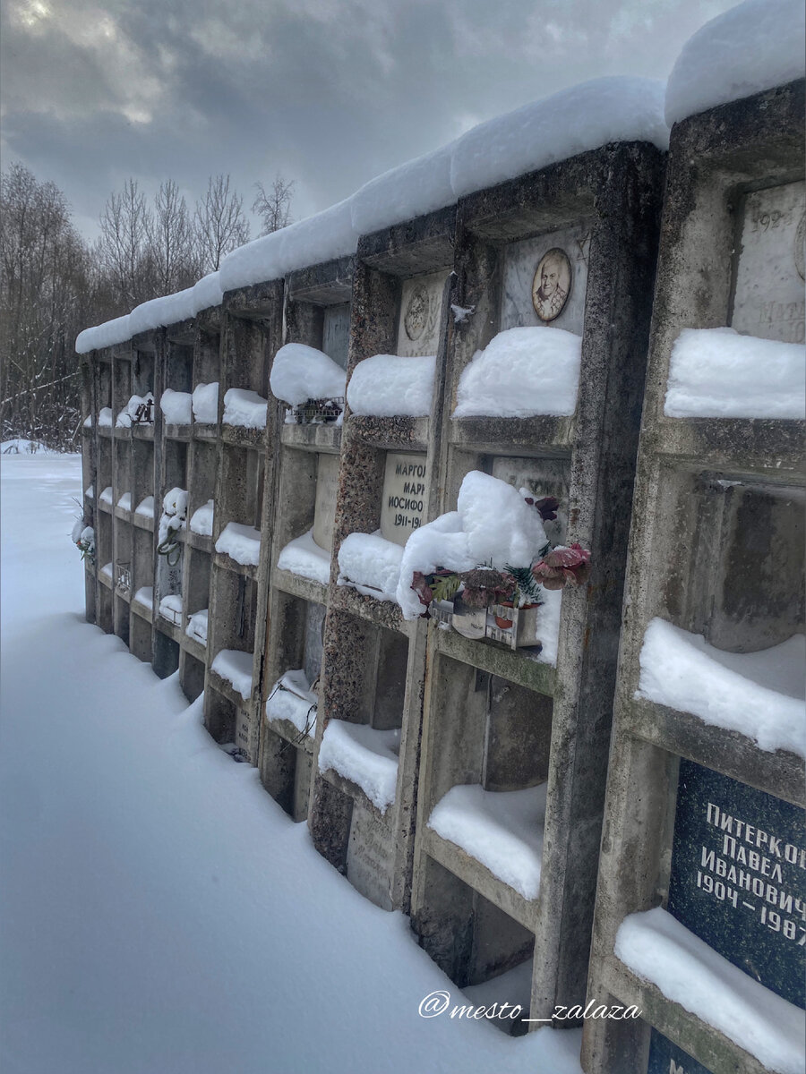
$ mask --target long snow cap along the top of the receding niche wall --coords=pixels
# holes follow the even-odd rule
[[[359,235],[443,208],[462,194],[607,142],[633,141],[667,146],[662,83],[608,77],[562,90],[479,124],[457,141],[371,179],[322,213],[232,250],[219,272],[196,287],[138,306],[130,315],[130,335],[193,317],[217,305],[224,291],[355,253]],[[85,342],[87,350],[98,346],[110,344]]]

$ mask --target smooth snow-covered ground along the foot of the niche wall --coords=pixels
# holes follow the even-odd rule
[[[462,996],[407,919],[84,622],[77,458],[0,478],[3,1074],[579,1074],[578,1031],[419,1017]]]

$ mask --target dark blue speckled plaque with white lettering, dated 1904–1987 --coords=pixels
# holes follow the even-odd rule
[[[668,912],[749,976],[805,1006],[802,810],[680,761]]]

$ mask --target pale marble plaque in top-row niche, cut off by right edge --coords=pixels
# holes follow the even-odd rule
[[[744,209],[731,325],[803,343],[806,184],[747,194]]]

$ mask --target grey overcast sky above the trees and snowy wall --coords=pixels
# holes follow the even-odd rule
[[[2,165],[97,233],[113,189],[229,172],[294,219],[474,124],[603,74],[665,78],[734,0],[4,0]],[[257,231],[255,231],[257,234]]]

